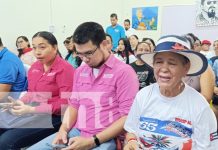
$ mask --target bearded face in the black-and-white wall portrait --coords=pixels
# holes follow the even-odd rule
[[[216,16],[217,0],[202,0],[202,10],[207,13],[209,18],[214,18]]]

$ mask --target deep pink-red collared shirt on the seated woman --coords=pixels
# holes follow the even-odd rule
[[[61,106],[67,104],[61,93],[72,92],[73,76],[73,67],[58,55],[47,72],[44,72],[43,64],[37,61],[28,71],[28,92],[21,100],[24,103],[38,103],[37,112],[59,115]]]

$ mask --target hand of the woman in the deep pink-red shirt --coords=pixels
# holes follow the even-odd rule
[[[29,106],[29,105],[25,105],[22,101],[17,100],[16,101],[16,105],[12,107],[12,109],[10,110],[10,112],[13,115],[24,115],[24,114],[28,114],[28,113],[33,113],[35,110],[34,107]]]

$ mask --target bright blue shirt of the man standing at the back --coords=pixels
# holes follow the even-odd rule
[[[118,41],[120,40],[120,38],[126,37],[124,28],[119,24],[117,24],[115,27],[113,26],[107,27],[106,33],[112,37],[112,41],[113,41],[112,50],[113,51],[117,48]]]

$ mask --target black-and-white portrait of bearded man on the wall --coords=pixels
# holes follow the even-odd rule
[[[217,0],[201,0],[201,12],[196,18],[197,25],[218,25]]]

